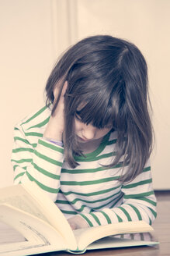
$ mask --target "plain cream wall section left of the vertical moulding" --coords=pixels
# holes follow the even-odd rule
[[[13,126],[43,104],[54,62],[51,26],[47,0],[0,1],[0,187],[12,183]]]

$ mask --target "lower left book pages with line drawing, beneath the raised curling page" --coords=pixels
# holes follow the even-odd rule
[[[2,256],[61,251],[67,248],[60,233],[57,233],[47,222],[11,205],[0,204],[0,220],[8,224],[8,229],[6,226],[2,228],[5,233],[10,234],[9,237],[4,236],[1,240],[0,255]],[[10,233],[11,230],[12,233]]]

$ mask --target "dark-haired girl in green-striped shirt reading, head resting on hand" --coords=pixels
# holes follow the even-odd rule
[[[72,229],[156,217],[147,64],[128,41],[101,35],[68,49],[47,104],[15,128],[15,183],[34,180]]]

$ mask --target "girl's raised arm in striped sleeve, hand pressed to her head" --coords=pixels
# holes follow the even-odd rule
[[[57,100],[58,88],[54,89],[54,103]],[[12,165],[15,173],[15,183],[25,183],[34,180],[53,201],[57,200],[60,189],[61,166],[64,162],[64,148],[53,143],[62,140],[64,130],[64,94],[67,82],[61,91],[54,114],[42,121],[43,108],[34,116],[15,128],[14,148],[12,150]],[[33,122],[33,123],[31,123]],[[28,123],[30,123],[28,125]],[[45,130],[40,133],[44,124]],[[34,129],[37,129],[36,132]],[[33,138],[34,137],[34,138]],[[31,142],[32,141],[32,142]],[[36,141],[36,144],[33,143]]]

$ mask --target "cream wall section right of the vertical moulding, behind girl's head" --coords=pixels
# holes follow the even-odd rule
[[[156,189],[170,189],[170,1],[77,1],[78,38],[112,34],[137,44],[147,59],[156,143],[151,165]]]

